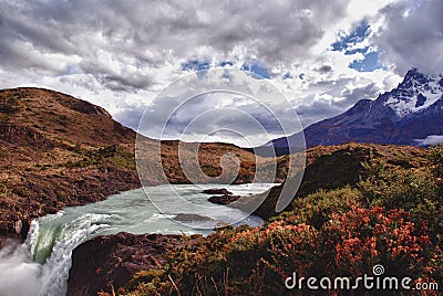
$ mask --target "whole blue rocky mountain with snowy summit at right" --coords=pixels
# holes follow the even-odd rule
[[[346,113],[303,130],[307,147],[349,141],[421,145],[431,135],[443,135],[443,76],[418,70],[375,101],[359,101]],[[296,146],[300,134],[272,140],[278,154]]]

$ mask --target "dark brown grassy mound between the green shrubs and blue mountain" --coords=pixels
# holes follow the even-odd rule
[[[303,198],[318,190],[339,189],[356,186],[368,173],[368,162],[384,161],[402,169],[423,168],[427,162],[427,151],[411,146],[344,144],[318,146],[307,150],[307,167],[296,198]],[[277,215],[276,202],[282,186],[266,192],[267,199],[255,214],[265,219]],[[260,198],[260,197],[258,197]],[[290,197],[291,198],[291,197]],[[254,199],[251,197],[250,199]],[[286,210],[292,210],[290,204]]]

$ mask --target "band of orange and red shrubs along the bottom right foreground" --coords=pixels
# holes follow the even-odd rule
[[[356,278],[372,275],[377,264],[384,266],[387,276],[442,281],[440,245],[430,239],[425,221],[416,222],[403,210],[353,207],[332,214],[320,230],[296,223],[299,220],[287,215],[265,228],[219,230],[185,245],[162,273],[145,276],[144,284],[133,282],[141,294],[130,295],[153,288],[177,295],[172,279],[181,295],[291,295],[295,290],[285,287],[285,278],[293,272],[299,277]]]

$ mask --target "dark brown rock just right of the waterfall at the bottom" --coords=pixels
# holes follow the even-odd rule
[[[161,268],[166,264],[167,251],[183,244],[181,237],[121,232],[96,236],[81,244],[72,253],[66,295],[116,290],[135,273]]]

